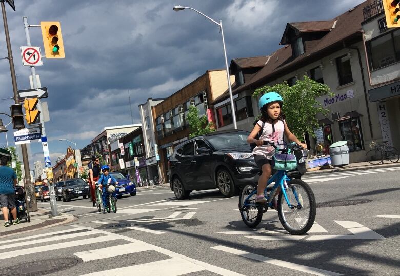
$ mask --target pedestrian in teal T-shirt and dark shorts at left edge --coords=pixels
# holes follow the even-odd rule
[[[8,208],[11,209],[11,214],[14,218],[13,224],[18,224],[21,221],[17,218],[15,208],[15,191],[14,187],[17,185],[17,177],[14,170],[7,166],[8,157],[0,157],[0,204],[4,216],[4,226],[10,226],[8,217]]]

